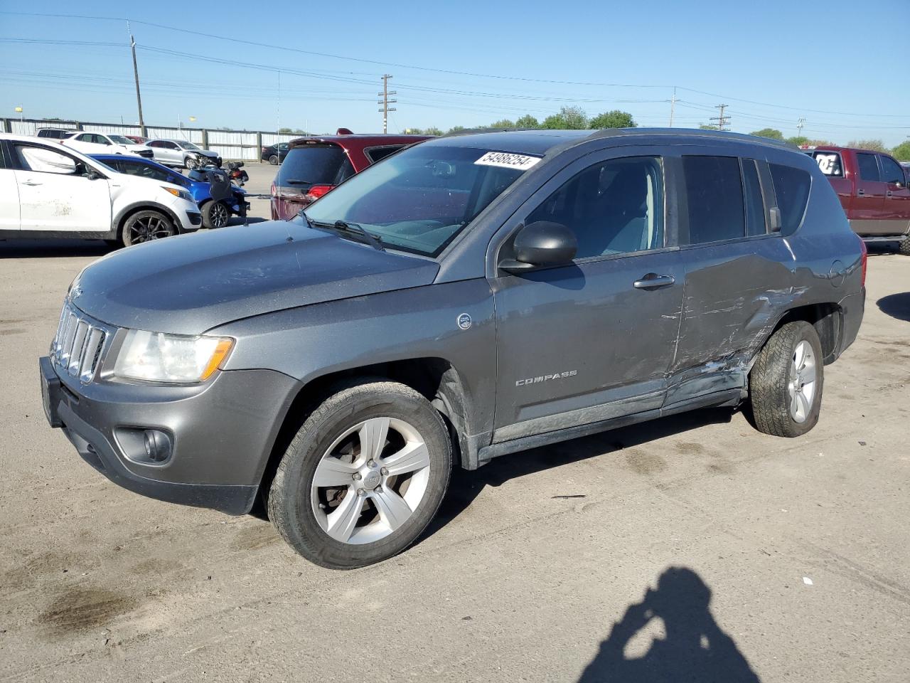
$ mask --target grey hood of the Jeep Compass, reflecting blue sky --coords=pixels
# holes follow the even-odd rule
[[[438,270],[435,261],[268,221],[112,252],[82,271],[72,293],[99,321],[199,334],[270,311],[430,284]]]

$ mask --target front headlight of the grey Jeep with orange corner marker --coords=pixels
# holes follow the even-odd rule
[[[205,382],[227,358],[234,340],[130,330],[114,363],[116,377],[145,382]]]

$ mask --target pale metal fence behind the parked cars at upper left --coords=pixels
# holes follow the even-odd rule
[[[115,135],[142,135],[138,126],[118,123],[90,123],[86,121],[60,121],[43,118],[0,118],[0,132],[18,135],[35,135],[38,128],[69,128],[90,133]],[[221,158],[256,161],[262,148],[278,142],[288,142],[298,135],[288,135],[265,130],[213,130],[211,128],[185,128],[147,126],[147,138],[173,138],[188,140],[204,149],[217,152]]]

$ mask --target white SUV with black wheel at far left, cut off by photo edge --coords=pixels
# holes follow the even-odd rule
[[[73,237],[129,246],[201,224],[186,189],[117,173],[56,142],[0,133],[0,240]]]

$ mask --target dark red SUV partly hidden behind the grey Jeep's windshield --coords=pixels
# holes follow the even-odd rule
[[[423,135],[336,135],[297,138],[272,182],[272,219],[287,220],[343,180],[400,148],[428,139]]]

